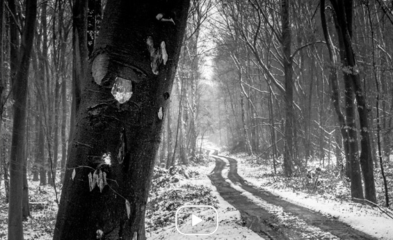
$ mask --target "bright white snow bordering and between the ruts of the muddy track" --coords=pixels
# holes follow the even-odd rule
[[[206,147],[206,146],[205,146]],[[214,146],[207,146],[207,148],[213,149]],[[356,230],[365,232],[378,239],[392,239],[393,240],[393,219],[383,214],[378,208],[370,207],[367,205],[361,205],[355,202],[348,202],[344,200],[337,200],[335,198],[329,198],[328,195],[310,195],[302,193],[300,191],[294,191],[293,189],[275,189],[273,187],[266,186],[263,184],[264,179],[257,177],[260,175],[258,169],[246,164],[246,160],[236,156],[230,156],[238,161],[238,173],[246,181],[255,187],[269,191],[274,195],[280,196],[284,200],[292,202],[296,205],[319,211],[326,216],[336,218],[338,221],[342,221],[351,225]],[[225,159],[223,159],[225,161]],[[215,234],[210,236],[195,237],[195,236],[184,236],[177,233],[175,226],[166,227],[161,234],[151,235],[149,239],[262,239],[254,232],[248,230],[246,227],[241,226],[241,217],[239,211],[234,209],[232,205],[226,202],[217,193],[215,186],[207,178],[207,174],[211,173],[214,168],[214,164],[208,167],[198,167],[198,171],[201,173],[200,179],[184,180],[184,184],[202,184],[214,190],[214,195],[218,199],[218,218],[219,227]],[[236,186],[227,179],[227,168],[223,170],[223,177],[231,186],[246,195],[249,200],[255,202],[268,211],[278,211],[277,206],[270,205],[261,198],[252,195],[241,189],[240,186]],[[200,225],[201,230],[203,225]],[[316,227],[313,231],[318,232],[319,229]],[[321,232],[326,234],[326,232]],[[330,234],[331,235],[331,234]],[[326,239],[337,239],[335,236],[326,236]]]

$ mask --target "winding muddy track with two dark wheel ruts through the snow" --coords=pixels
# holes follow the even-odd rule
[[[244,225],[264,239],[376,239],[345,223],[256,189],[239,176],[236,160],[217,156],[217,152],[211,157],[216,159],[216,167],[209,175],[212,184],[227,202],[240,211]],[[229,162],[227,179],[223,177],[223,170],[228,167],[225,159]],[[266,202],[262,204],[265,207],[257,204],[250,195]]]

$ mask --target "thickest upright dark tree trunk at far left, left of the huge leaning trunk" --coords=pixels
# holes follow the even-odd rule
[[[13,4],[11,4],[11,2]],[[11,13],[16,15],[15,2],[9,1]],[[37,1],[26,1],[26,19],[22,31],[22,44],[19,48],[16,75],[13,76],[14,122],[10,156],[10,204],[8,206],[8,239],[23,239],[22,189],[23,189],[23,147],[26,132],[26,96],[29,77],[30,54],[33,46]],[[14,26],[16,29],[16,26]],[[15,39],[13,39],[15,40]],[[11,41],[11,45],[17,42]]]

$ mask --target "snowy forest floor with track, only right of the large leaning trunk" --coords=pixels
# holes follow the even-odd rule
[[[148,239],[393,239],[393,219],[378,207],[351,201],[345,177],[333,177],[328,170],[322,169],[311,178],[285,179],[280,174],[273,175],[269,164],[255,157],[244,154],[211,157],[214,161],[187,168],[198,174],[189,174],[189,179],[180,177],[173,181],[176,183],[166,185],[162,192],[156,192],[161,195],[160,200],[167,201],[152,209],[153,215],[161,216],[165,212],[165,224],[154,224],[157,217],[147,214],[147,221],[150,221]],[[206,191],[195,191],[191,194],[194,200],[191,200],[186,190],[190,186]],[[198,237],[179,234],[174,220],[177,207],[168,204],[171,200],[163,194],[171,191],[180,191],[175,198],[177,207],[216,207],[217,232]],[[151,200],[156,199],[152,195]],[[198,214],[204,216],[204,212]],[[197,225],[193,229],[202,232],[204,227]],[[187,230],[179,228],[182,232]]]

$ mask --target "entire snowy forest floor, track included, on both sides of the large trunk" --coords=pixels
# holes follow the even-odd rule
[[[323,170],[317,176],[285,179],[271,164],[244,154],[202,155],[199,163],[166,170],[155,168],[145,218],[147,239],[392,239],[393,219],[378,208],[352,202],[349,184]],[[57,204],[51,186],[29,181],[31,217],[24,239],[53,236]],[[218,211],[218,230],[208,236],[185,236],[175,227],[179,207],[209,205]],[[216,221],[206,209],[193,212],[204,222]],[[0,240],[7,236],[8,205],[0,185]],[[189,230],[189,214],[178,216]],[[348,227],[351,225],[352,228]]]

